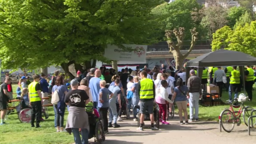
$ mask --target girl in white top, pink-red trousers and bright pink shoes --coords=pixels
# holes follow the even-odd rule
[[[171,104],[173,103],[172,100],[168,99],[168,92],[166,91],[167,87],[167,81],[162,80],[160,88],[156,89],[156,103],[159,106],[159,119],[162,124],[169,124],[168,122],[166,122],[167,102]],[[161,120],[161,117],[163,118],[163,120]]]

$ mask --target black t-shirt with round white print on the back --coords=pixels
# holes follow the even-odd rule
[[[86,92],[79,89],[71,90],[65,95],[65,103],[73,107],[85,108],[85,100],[88,99]]]

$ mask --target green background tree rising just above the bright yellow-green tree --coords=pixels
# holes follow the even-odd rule
[[[240,16],[242,16],[246,12],[246,8],[244,7],[232,7],[228,9],[228,26],[233,28],[236,24],[236,21],[239,20]]]

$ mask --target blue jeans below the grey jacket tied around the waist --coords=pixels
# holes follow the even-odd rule
[[[81,135],[82,135],[82,140],[80,138],[80,133],[79,133],[79,128],[72,128],[75,144],[89,144],[88,142],[88,136],[89,132],[88,129],[81,129]]]

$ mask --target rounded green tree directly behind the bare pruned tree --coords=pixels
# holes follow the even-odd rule
[[[167,4],[161,4],[152,10],[153,14],[158,16],[158,22],[161,25],[159,32],[162,34],[166,29],[184,28],[185,33],[190,33],[190,29],[198,28],[193,20],[193,12],[201,9],[202,6],[197,3],[197,0],[175,0]],[[200,32],[199,32],[200,33]],[[163,40],[163,36],[160,40]],[[186,35],[184,40],[191,40],[191,36]]]

